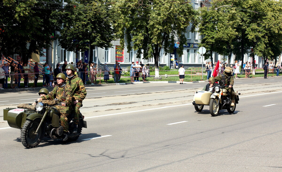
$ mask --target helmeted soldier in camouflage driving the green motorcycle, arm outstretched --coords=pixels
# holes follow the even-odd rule
[[[63,73],[59,73],[56,76],[58,85],[54,87],[52,92],[47,94],[46,96],[43,96],[42,98],[39,98],[39,100],[60,100],[62,96],[66,97],[66,100],[63,101],[61,104],[62,106],[56,105],[55,108],[60,111],[61,113],[61,126],[63,127],[63,132],[65,134],[65,137],[63,138],[63,141],[67,140],[69,136],[69,125],[68,125],[68,118],[67,116],[70,114],[71,111],[71,102],[72,102],[72,90],[70,88],[70,85],[65,82],[65,75]]]

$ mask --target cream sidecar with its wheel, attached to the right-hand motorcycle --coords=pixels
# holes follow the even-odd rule
[[[210,97],[211,92],[204,91],[204,90],[198,90],[194,93],[193,98],[193,105],[195,107],[195,110],[197,112],[201,112],[204,108],[204,105],[210,105]]]

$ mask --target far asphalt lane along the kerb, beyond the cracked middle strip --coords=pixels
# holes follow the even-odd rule
[[[269,77],[269,79],[256,78],[256,79],[235,79],[234,88],[237,85],[252,85],[252,84],[265,84],[282,82],[282,77]],[[95,86],[86,87],[86,98],[104,97],[115,95],[128,95],[136,93],[160,92],[160,91],[173,91],[185,89],[203,88],[207,82],[200,83],[145,83],[145,84],[130,84],[130,85],[113,85],[113,86]],[[40,88],[38,89],[38,91]],[[19,103],[32,103],[38,97],[38,91],[25,91],[16,93],[1,93],[1,105],[19,104]]]

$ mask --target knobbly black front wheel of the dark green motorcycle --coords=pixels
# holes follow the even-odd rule
[[[23,124],[23,128],[21,129],[21,143],[28,149],[35,148],[39,145],[39,139],[42,134],[41,127],[38,134],[34,134],[39,122],[39,120],[30,121],[27,119]]]

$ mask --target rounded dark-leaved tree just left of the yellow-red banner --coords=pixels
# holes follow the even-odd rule
[[[59,42],[68,51],[86,51],[90,49],[90,59],[93,60],[93,48],[111,47],[115,40],[112,27],[115,16],[106,1],[70,1],[60,12]]]

